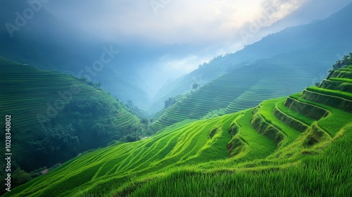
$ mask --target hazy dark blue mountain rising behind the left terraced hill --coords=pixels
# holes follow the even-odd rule
[[[3,0],[0,4],[0,56],[35,65],[43,70],[56,70],[76,77],[87,75],[92,81],[101,82],[103,89],[118,96],[121,101],[132,99],[139,106],[148,101],[142,83],[139,84],[134,77],[130,77],[132,65],[140,64],[131,58],[139,56],[133,49],[82,32],[59,20],[45,8],[40,8],[11,37],[6,30],[6,23],[15,24],[15,13],[23,13],[29,4],[20,0]],[[103,69],[92,69],[93,63],[101,60],[102,54],[111,48],[120,53],[105,57],[109,61],[104,61]]]

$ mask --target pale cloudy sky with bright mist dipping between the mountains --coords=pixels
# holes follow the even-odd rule
[[[327,18],[349,3],[351,0],[49,0],[44,7],[57,18],[113,42],[124,39],[122,35],[138,35],[153,43],[198,44],[182,58],[163,54],[156,59],[153,64],[158,73],[151,76],[162,84],[267,34]]]

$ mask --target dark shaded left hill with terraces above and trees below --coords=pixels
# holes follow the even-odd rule
[[[0,87],[1,116],[11,115],[12,151],[24,170],[106,146],[139,123],[99,84],[1,57]]]

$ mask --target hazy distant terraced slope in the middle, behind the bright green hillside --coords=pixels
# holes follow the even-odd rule
[[[216,117],[224,114],[219,113],[223,109],[229,114],[253,108],[266,99],[288,96],[311,84],[312,76],[304,70],[285,64],[272,67],[250,65],[218,77],[167,108],[149,130],[157,132],[187,119]]]

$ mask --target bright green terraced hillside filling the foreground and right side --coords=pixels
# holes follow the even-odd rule
[[[84,153],[4,196],[351,196],[351,80],[349,66],[288,98]]]

